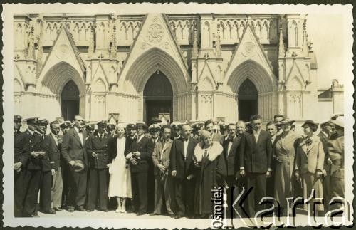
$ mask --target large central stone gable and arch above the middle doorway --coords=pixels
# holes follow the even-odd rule
[[[138,93],[156,70],[169,78],[176,93],[187,90],[190,81],[187,63],[167,19],[164,14],[147,14],[121,70],[119,88]]]

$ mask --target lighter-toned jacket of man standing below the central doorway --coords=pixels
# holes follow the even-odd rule
[[[157,167],[157,164],[163,164],[166,167],[166,172],[169,172],[169,164],[170,164],[170,153],[172,147],[173,140],[168,140],[167,142],[157,142],[155,150],[152,153],[152,161],[155,166],[154,173],[158,175],[160,170]]]

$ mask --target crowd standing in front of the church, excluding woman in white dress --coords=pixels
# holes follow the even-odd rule
[[[250,122],[163,125],[155,118],[149,127],[136,122],[115,129],[106,120],[85,124],[79,115],[73,122],[49,124],[29,117],[24,120],[26,130],[20,132],[22,117],[14,115],[14,214],[107,212],[109,168],[120,148],[115,132],[119,127],[125,127],[122,159],[130,169],[132,189],[132,200],[117,204],[124,211],[206,218],[216,185],[236,187],[236,193],[242,186],[253,187],[244,204],[251,215],[262,208],[258,202],[266,195],[281,203],[283,214],[286,197],[309,197],[311,189],[325,199],[318,211],[328,211],[331,197],[344,197],[342,114],[321,122],[318,135],[314,133],[319,124],[313,120],[302,125],[304,135],[297,134],[295,122],[283,115],[275,115],[266,131],[261,120],[253,115]],[[51,132],[46,135],[48,125]],[[231,204],[236,194],[227,191]]]

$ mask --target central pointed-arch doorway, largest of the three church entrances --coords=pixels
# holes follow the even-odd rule
[[[152,117],[158,117],[161,120],[164,117],[167,122],[172,122],[172,85],[166,75],[159,70],[147,80],[143,90],[143,99],[144,121],[147,125],[151,124]]]

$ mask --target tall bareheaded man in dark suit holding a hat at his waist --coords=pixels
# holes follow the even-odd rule
[[[63,136],[61,154],[68,163],[69,168],[69,186],[68,186],[68,211],[74,209],[85,211],[84,204],[87,188],[87,165],[88,157],[85,150],[85,139],[87,137],[83,129],[83,117],[76,115],[74,117],[74,127]],[[80,160],[85,164],[85,169],[75,172],[75,161]]]

